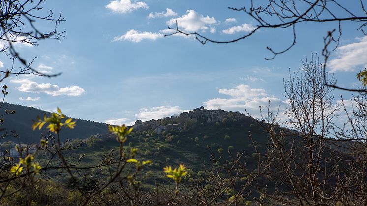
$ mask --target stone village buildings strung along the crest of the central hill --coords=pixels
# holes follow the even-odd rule
[[[141,120],[135,121],[133,128],[135,131],[143,131],[153,129],[157,134],[161,134],[163,131],[181,131],[187,129],[192,123],[212,123],[221,122],[225,119],[239,120],[245,118],[245,114],[238,111],[227,112],[222,109],[207,110],[203,106],[196,108],[189,112],[183,112],[178,116],[165,117],[162,119],[142,122]]]

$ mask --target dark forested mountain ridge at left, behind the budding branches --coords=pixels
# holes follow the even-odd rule
[[[13,141],[21,143],[39,143],[41,134],[48,134],[47,129],[43,130],[32,130],[32,120],[35,120],[37,116],[43,117],[44,114],[49,116],[51,113],[33,107],[26,107],[22,105],[4,103],[0,111],[0,114],[4,114],[5,110],[15,110],[14,114],[5,115],[4,122],[0,124],[0,129],[6,129],[7,133],[14,131],[18,134],[18,137],[7,136],[1,139],[4,141]],[[61,130],[61,139],[75,139],[75,138],[88,138],[95,134],[106,134],[108,131],[107,124],[99,123],[89,120],[74,119],[76,127],[72,130],[63,129]],[[1,131],[0,135],[4,134],[5,131]]]

